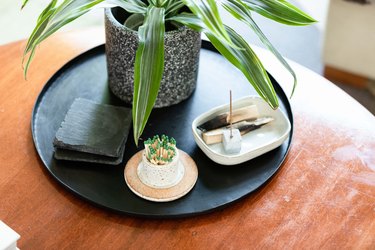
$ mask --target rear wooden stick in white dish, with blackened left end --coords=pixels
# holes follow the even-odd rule
[[[197,128],[202,132],[214,130],[217,128],[228,126],[230,123],[229,112],[214,117],[213,119],[199,125]],[[256,105],[250,105],[243,108],[234,109],[232,111],[232,123],[255,119],[259,116]]]

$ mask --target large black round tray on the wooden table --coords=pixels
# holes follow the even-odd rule
[[[104,45],[81,54],[61,68],[44,86],[32,114],[32,135],[46,169],[64,187],[95,205],[116,212],[145,217],[182,217],[207,213],[234,202],[264,184],[283,163],[292,140],[293,115],[288,98],[271,77],[287,114],[291,133],[278,148],[251,161],[222,166],[211,161],[195,144],[191,123],[203,112],[255,91],[241,72],[227,62],[208,42],[203,42],[197,88],[186,101],[168,108],[154,109],[142,138],[167,134],[196,162],[198,181],[185,197],[166,203],[146,201],[133,194],[124,181],[124,166],[137,151],[129,136],[124,161],[118,166],[58,161],[53,157],[53,139],[75,98],[98,103],[122,104],[107,87]],[[132,131],[130,131],[132,133]],[[142,143],[140,143],[142,145]]]

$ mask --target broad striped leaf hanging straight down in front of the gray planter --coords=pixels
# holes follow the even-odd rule
[[[150,7],[139,27],[134,65],[133,132],[138,145],[158,95],[164,71],[164,8]]]

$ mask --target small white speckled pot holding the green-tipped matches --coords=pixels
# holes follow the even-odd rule
[[[156,165],[149,162],[145,152],[138,165],[137,174],[143,184],[153,188],[169,188],[178,184],[184,176],[185,168],[180,161],[178,150],[172,162]]]

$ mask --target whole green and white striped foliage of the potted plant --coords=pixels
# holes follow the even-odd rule
[[[24,0],[22,7],[27,2],[28,0]],[[138,29],[139,45],[134,65],[132,110],[136,143],[158,95],[164,68],[164,34],[167,22],[179,23],[203,32],[274,109],[279,105],[278,99],[265,68],[245,39],[223,23],[219,12],[220,5],[234,18],[244,22],[292,74],[293,91],[297,82],[296,75],[254,22],[252,15],[257,12],[287,25],[308,25],[315,22],[285,0],[52,0],[40,14],[26,45],[25,77],[38,44],[62,26],[103,4],[107,7],[118,6],[129,13],[144,16],[143,24]]]

